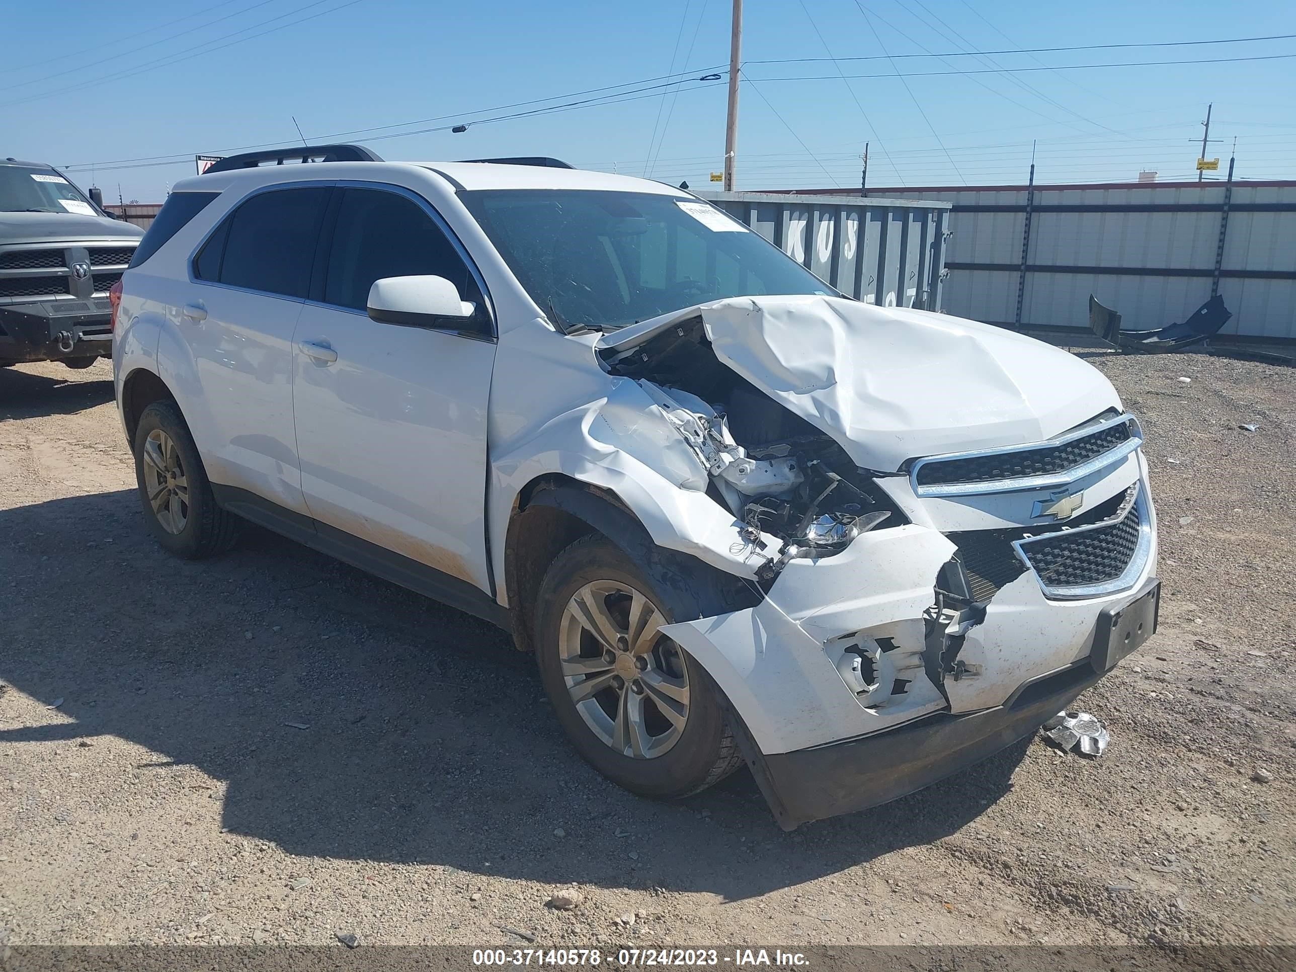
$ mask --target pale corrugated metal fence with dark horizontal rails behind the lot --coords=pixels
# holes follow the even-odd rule
[[[915,193],[954,206],[945,310],[1012,324],[1026,188],[879,189],[870,198]],[[1210,297],[1223,198],[1221,181],[1036,187],[1023,325],[1086,328],[1090,294],[1129,329],[1183,320]],[[1218,266],[1232,311],[1222,334],[1296,340],[1296,183],[1232,184]]]

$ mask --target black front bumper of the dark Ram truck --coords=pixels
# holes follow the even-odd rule
[[[113,353],[105,297],[0,305],[0,362],[49,362]]]

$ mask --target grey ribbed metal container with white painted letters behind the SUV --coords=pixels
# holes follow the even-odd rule
[[[702,194],[851,297],[941,308],[947,202]]]

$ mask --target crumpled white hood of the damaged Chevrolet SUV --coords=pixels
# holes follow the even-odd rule
[[[1074,355],[962,318],[840,297],[741,297],[696,312],[721,362],[866,469],[1039,442],[1121,407]]]

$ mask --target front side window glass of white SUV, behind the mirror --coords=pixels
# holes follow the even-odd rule
[[[382,277],[434,273],[478,307],[482,295],[459,251],[412,200],[382,189],[345,189],[324,277],[324,302],[363,311]]]

